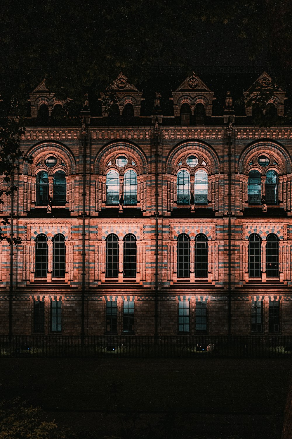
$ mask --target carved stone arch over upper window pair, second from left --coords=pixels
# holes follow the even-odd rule
[[[94,161],[95,174],[105,175],[108,161],[118,153],[125,153],[133,157],[139,175],[148,173],[147,158],[139,146],[132,142],[113,141],[104,145],[97,153]]]

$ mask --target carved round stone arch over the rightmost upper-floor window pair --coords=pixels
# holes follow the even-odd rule
[[[283,145],[274,140],[256,140],[250,143],[239,156],[238,173],[247,174],[247,169],[253,157],[259,153],[271,153],[277,160],[280,174],[290,174],[292,170],[292,160],[288,151]],[[275,168],[276,169],[276,168]]]

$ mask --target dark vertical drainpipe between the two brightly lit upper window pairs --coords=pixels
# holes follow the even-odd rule
[[[156,121],[155,121],[156,122]],[[159,129],[154,128],[155,136],[155,338],[158,338],[158,135]]]

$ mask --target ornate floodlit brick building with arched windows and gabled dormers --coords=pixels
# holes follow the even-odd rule
[[[0,205],[22,240],[0,244],[1,334],[291,334],[291,127],[255,126],[225,93],[268,89],[266,72],[216,93],[204,76],[155,97],[121,73],[117,104],[88,97],[77,122],[45,81],[32,91],[32,163]]]

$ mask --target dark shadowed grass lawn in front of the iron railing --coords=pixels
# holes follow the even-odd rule
[[[0,393],[39,405],[60,425],[101,434],[119,432],[119,413],[130,425],[136,412],[138,429],[169,425],[163,437],[266,439],[280,428],[290,371],[288,359],[2,358]]]

